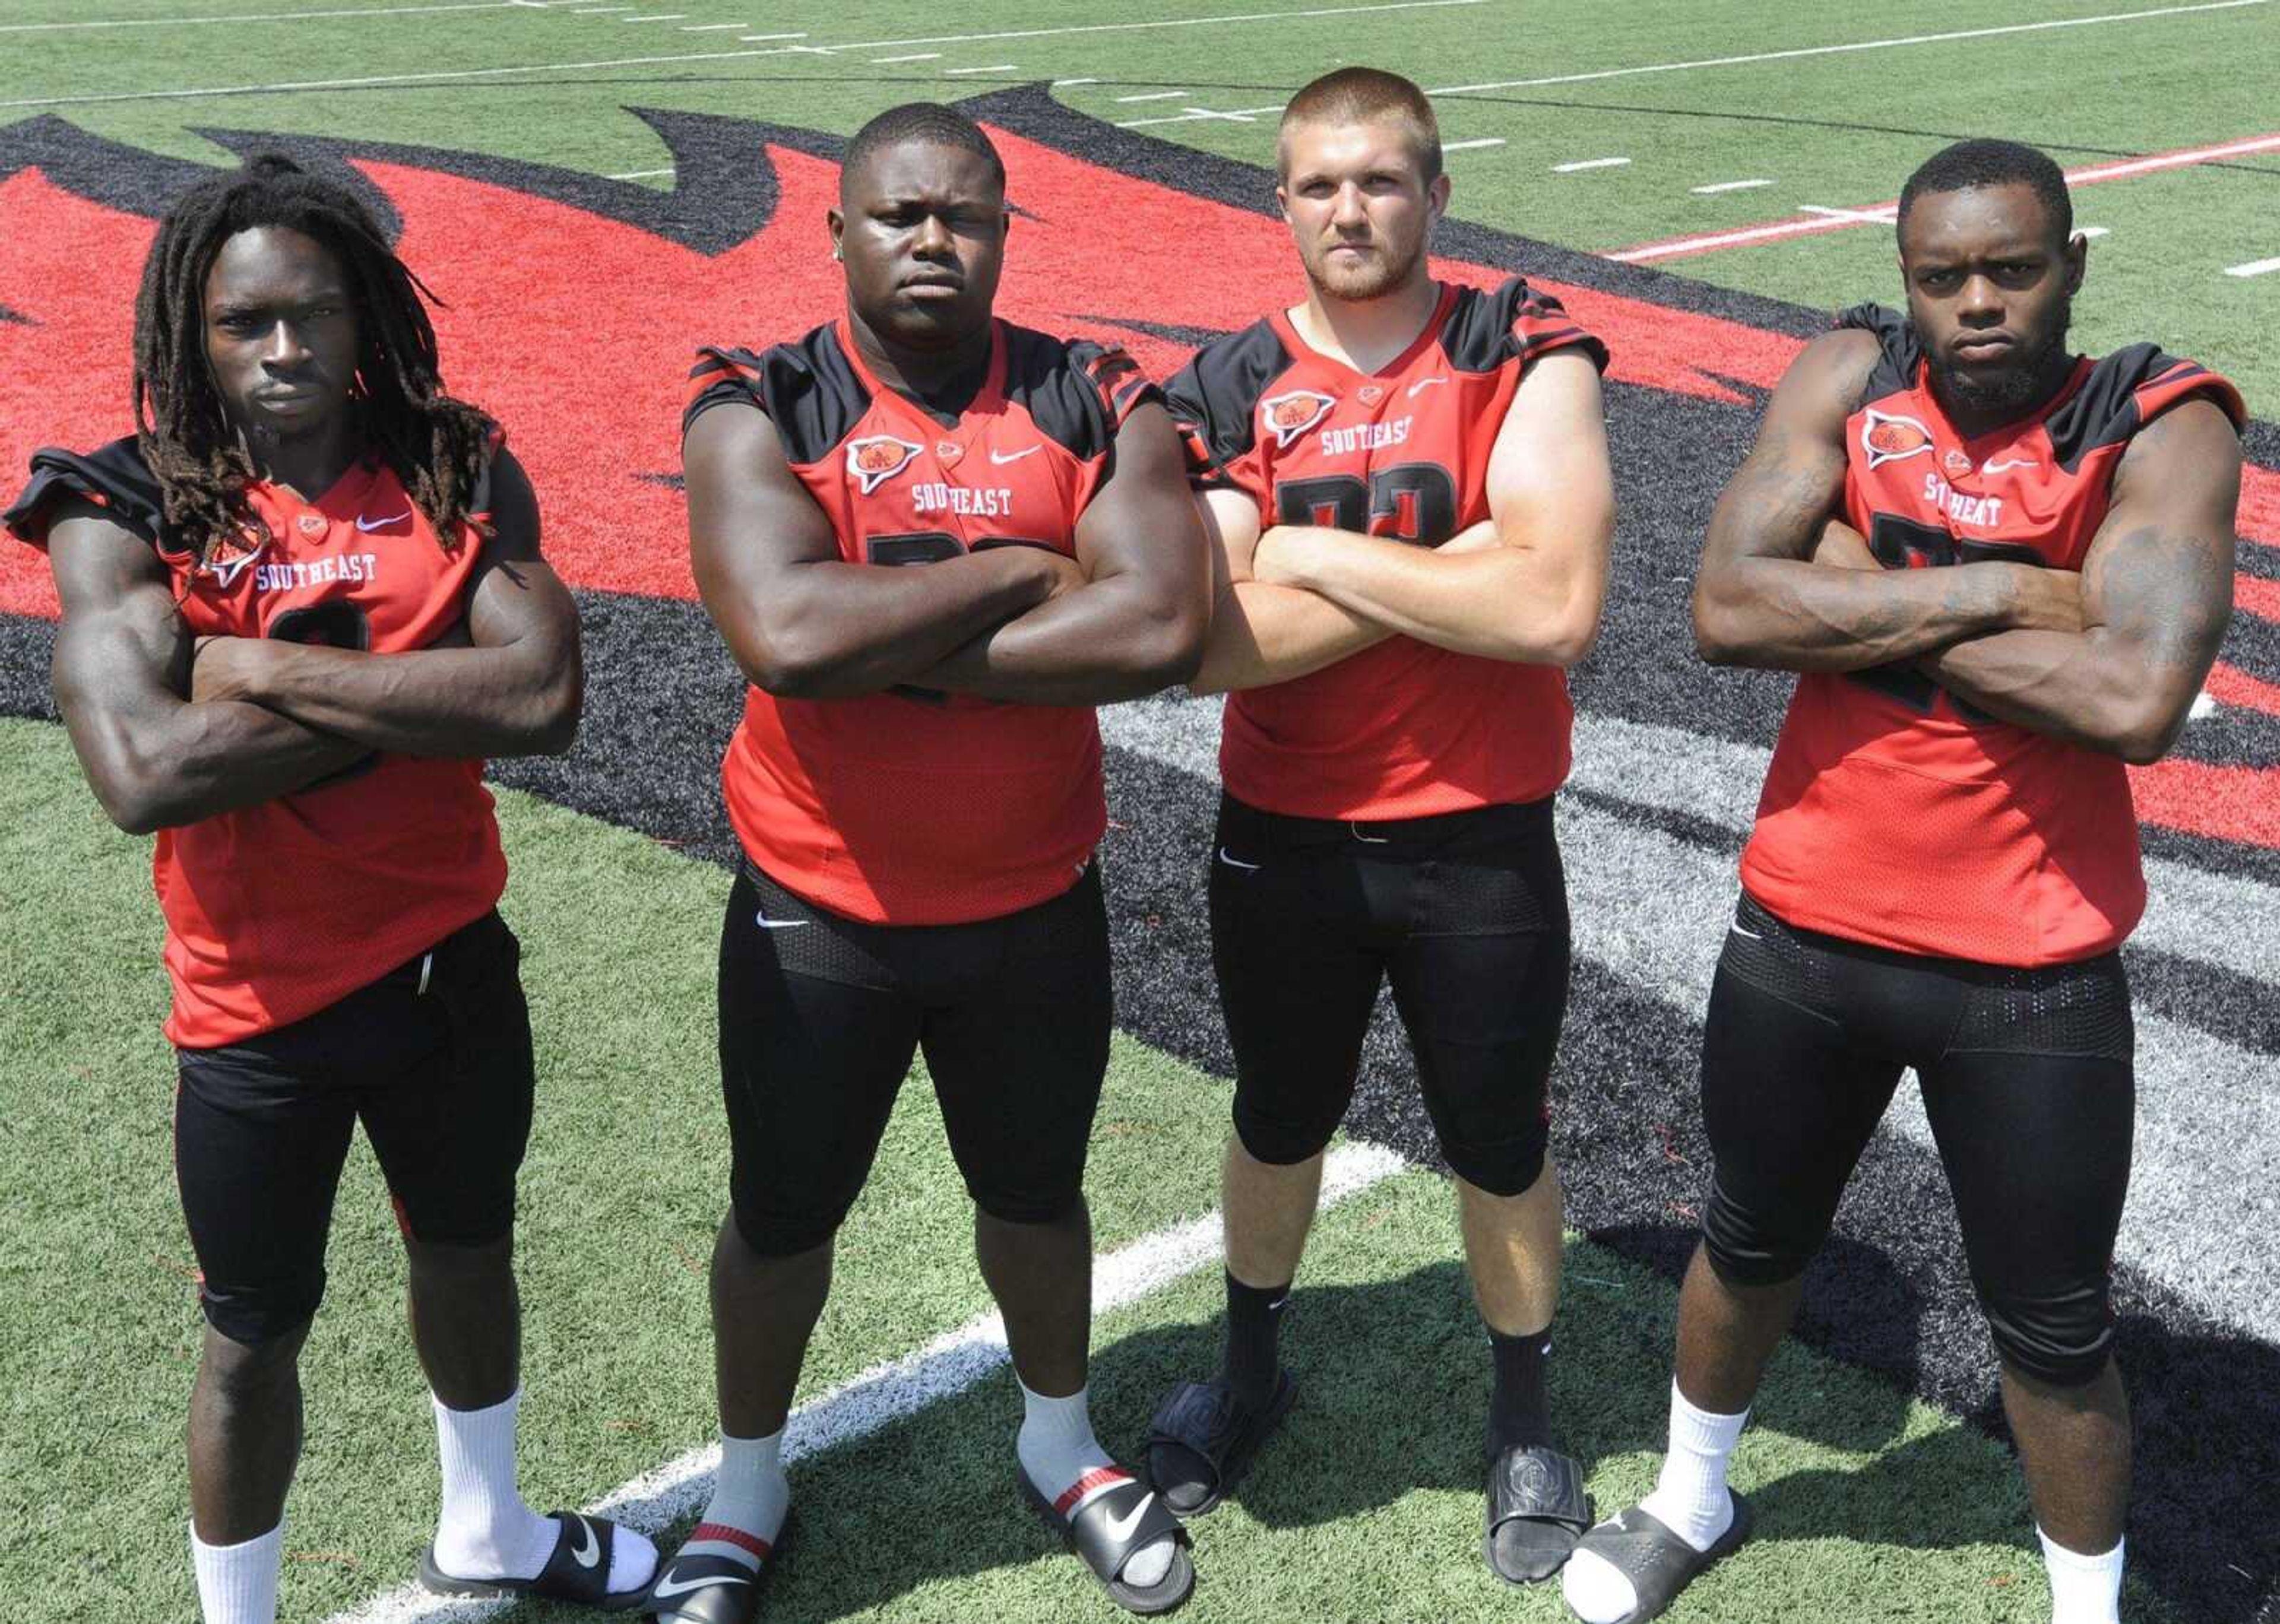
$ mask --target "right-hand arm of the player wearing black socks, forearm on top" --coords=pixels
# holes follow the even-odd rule
[[[1573,666],[1598,636],[1614,541],[1598,370],[1585,356],[1528,370],[1489,456],[1489,511],[1498,547],[1290,531],[1261,543],[1254,570],[1439,648]]]

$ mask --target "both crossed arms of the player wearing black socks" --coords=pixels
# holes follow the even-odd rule
[[[1206,490],[1197,506],[1218,595],[1197,693],[1288,682],[1389,636],[1573,666],[1598,636],[1614,541],[1598,370],[1564,351],[1528,370],[1489,456],[1489,520],[1439,547],[1261,529],[1236,490]]]

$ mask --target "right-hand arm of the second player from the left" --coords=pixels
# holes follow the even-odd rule
[[[919,687],[1101,705],[1195,675],[1211,566],[1163,406],[1142,404],[1117,431],[1115,472],[1076,520],[1076,563],[1081,584],[976,636]]]

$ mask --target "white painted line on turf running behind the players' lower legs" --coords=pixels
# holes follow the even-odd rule
[[[1341,1145],[1329,1152],[1322,1168],[1322,1207],[1359,1195],[1407,1166],[1382,1145]],[[1131,1241],[1092,1261],[1092,1314],[1099,1318],[1138,1302],[1218,1259],[1220,1213],[1215,1211]],[[784,1464],[853,1444],[919,1414],[928,1405],[955,1398],[994,1375],[1005,1362],[1005,1321],[996,1314],[978,1314],[917,1353],[873,1364],[862,1375],[793,1410],[784,1432]],[[620,1485],[588,1510],[597,1517],[616,1517],[641,1533],[659,1535],[705,1508],[718,1464],[718,1444],[693,1448],[657,1471]],[[415,1624],[415,1619],[417,1624],[442,1624],[445,1619],[497,1617],[508,1606],[506,1599],[451,1601],[431,1597],[417,1585],[399,1585],[363,1606],[335,1613],[326,1624]]]

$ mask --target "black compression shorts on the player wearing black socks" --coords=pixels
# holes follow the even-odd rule
[[[1550,798],[1345,823],[1222,796],[1211,963],[1259,1161],[1329,1143],[1391,976],[1448,1166],[1491,1195],[1541,1177],[1569,985]]]

